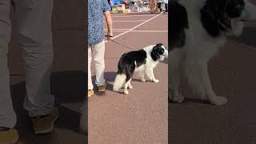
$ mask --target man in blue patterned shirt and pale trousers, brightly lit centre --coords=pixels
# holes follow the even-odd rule
[[[91,80],[90,63],[93,60],[96,69],[95,84],[98,91],[105,91],[106,81],[105,69],[105,41],[103,30],[103,18],[106,18],[107,37],[113,37],[112,18],[110,15],[110,4],[107,0],[88,1],[88,97],[94,94],[94,85]]]

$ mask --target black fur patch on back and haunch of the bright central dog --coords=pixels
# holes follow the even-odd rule
[[[126,82],[132,78],[134,74],[136,68],[135,61],[137,67],[146,64],[146,51],[137,50],[122,54],[118,62],[118,74],[126,74]]]

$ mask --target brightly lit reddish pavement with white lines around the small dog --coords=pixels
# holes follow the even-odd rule
[[[114,41],[124,46],[106,43],[108,85],[105,94],[89,98],[89,143],[167,143],[166,62],[154,69],[159,83],[134,80],[131,82],[134,90],[129,90],[128,95],[112,91],[118,60],[123,53],[157,42],[167,46],[167,18],[168,14],[113,14]]]

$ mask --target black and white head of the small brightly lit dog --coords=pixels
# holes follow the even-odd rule
[[[154,61],[163,61],[164,58],[168,57],[168,50],[166,50],[166,47],[162,45],[162,43],[158,43],[155,45],[151,51],[151,58],[154,59]]]

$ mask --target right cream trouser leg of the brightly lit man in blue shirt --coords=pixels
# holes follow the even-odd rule
[[[94,57],[94,64],[96,68],[96,85],[97,86],[104,86],[106,85],[104,79],[104,70],[105,70],[105,41],[99,42],[98,44],[93,45],[93,57]],[[105,88],[104,88],[105,89]]]

